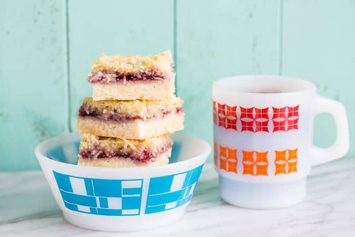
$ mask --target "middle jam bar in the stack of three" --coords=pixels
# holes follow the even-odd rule
[[[78,131],[96,136],[146,139],[184,129],[183,101],[106,100],[84,98],[79,109]]]

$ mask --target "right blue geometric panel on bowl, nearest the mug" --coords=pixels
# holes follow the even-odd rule
[[[203,165],[191,171],[150,179],[146,214],[180,207],[192,198]]]

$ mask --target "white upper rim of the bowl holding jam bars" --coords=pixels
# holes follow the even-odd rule
[[[41,142],[40,144],[38,144],[35,149],[34,149],[34,154],[36,155],[38,161],[41,163],[41,160],[46,160],[49,162],[53,162],[54,164],[58,164],[58,165],[63,165],[63,166],[68,166],[71,168],[77,168],[77,169],[85,169],[86,171],[93,171],[93,172],[108,172],[108,171],[113,171],[113,170],[117,170],[119,169],[120,171],[124,172],[124,171],[158,171],[158,170],[162,170],[162,169],[166,169],[167,167],[169,168],[174,168],[174,167],[179,167],[179,166],[183,166],[183,165],[188,165],[190,163],[204,163],[207,159],[207,157],[210,155],[211,153],[211,147],[210,145],[197,137],[191,136],[189,134],[186,133],[175,133],[175,134],[171,134],[172,136],[172,140],[174,140],[174,137],[182,137],[182,138],[190,138],[190,139],[195,139],[198,142],[201,143],[201,145],[203,146],[203,152],[201,152],[200,154],[193,156],[191,158],[188,158],[186,160],[182,160],[182,161],[177,161],[174,163],[168,163],[166,165],[159,165],[159,166],[135,166],[135,167],[96,167],[96,166],[81,166],[81,165],[77,165],[77,164],[70,164],[70,163],[65,163],[65,162],[61,162],[61,161],[57,161],[57,160],[53,160],[49,157],[47,157],[44,153],[44,151],[46,149],[46,146],[54,143],[56,140],[61,139],[61,138],[66,138],[67,142],[73,142],[77,140],[77,136],[80,136],[80,133],[78,132],[68,132],[68,133],[63,133],[60,134],[59,136],[47,139],[43,142]],[[58,145],[61,146],[62,144]]]

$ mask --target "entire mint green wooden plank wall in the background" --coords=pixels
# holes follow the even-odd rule
[[[33,170],[36,144],[76,129],[91,94],[90,64],[101,53],[171,49],[186,129],[212,141],[211,83],[236,74],[313,81],[345,104],[355,155],[355,1],[350,0],[2,0],[0,171]],[[335,136],[316,119],[315,143]],[[326,129],[327,128],[327,129]]]

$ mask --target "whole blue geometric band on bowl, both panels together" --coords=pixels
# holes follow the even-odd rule
[[[67,209],[105,216],[135,216],[180,207],[192,198],[203,165],[193,170],[149,180],[148,195],[143,193],[143,179],[92,179],[53,171]],[[146,181],[148,182],[148,180]],[[142,198],[147,196],[146,207]]]

